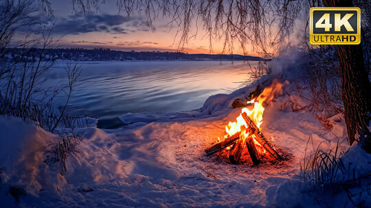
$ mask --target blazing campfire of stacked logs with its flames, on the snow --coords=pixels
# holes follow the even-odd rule
[[[244,107],[235,122],[229,122],[225,126],[226,135],[224,140],[218,138],[218,142],[205,149],[207,155],[212,155],[224,149],[229,150],[228,158],[232,164],[238,163],[241,153],[245,147],[249,152],[251,161],[254,164],[260,164],[260,158],[265,155],[282,160],[282,156],[276,151],[276,148],[262,134],[261,125],[263,122],[262,115],[268,103],[273,100],[276,93],[282,91],[282,83],[274,80],[269,88],[256,98],[251,98],[247,104],[254,107],[249,110]]]

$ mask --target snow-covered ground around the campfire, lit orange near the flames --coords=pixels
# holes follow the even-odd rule
[[[284,86],[266,107],[262,124],[266,137],[292,158],[259,166],[245,152],[238,165],[204,155],[240,114],[232,101],[244,99],[249,87],[211,96],[193,112],[126,114],[120,119],[134,124],[122,129],[78,129],[83,139],[63,174],[57,164],[45,163],[57,135],[0,116],[1,207],[15,206],[10,187],[25,191],[21,207],[352,207],[345,192],[321,198],[300,177],[305,152],[311,155],[319,144],[328,151],[338,141],[346,151],[348,142],[341,115],[330,118],[333,129],[325,131],[311,112],[293,112],[291,106],[308,104],[294,88]],[[357,143],[344,156],[350,162],[357,172],[371,170],[371,156]],[[361,199],[370,205],[367,194]]]

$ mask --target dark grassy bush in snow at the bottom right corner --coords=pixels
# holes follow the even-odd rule
[[[320,145],[311,157],[305,155],[300,164],[307,189],[315,192],[318,201],[340,196],[348,198],[346,207],[365,207],[370,198],[370,154],[358,142],[345,153],[340,151],[339,142],[327,152]]]

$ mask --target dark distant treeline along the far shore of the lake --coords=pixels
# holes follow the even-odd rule
[[[21,54],[30,59],[38,59],[42,49],[32,48],[27,53],[19,49],[7,49],[1,59],[10,59]],[[251,55],[222,55],[222,54],[188,54],[180,52],[160,51],[115,51],[111,49],[44,49],[43,60],[74,60],[74,61],[124,61],[124,60],[246,60],[266,61],[262,57]]]

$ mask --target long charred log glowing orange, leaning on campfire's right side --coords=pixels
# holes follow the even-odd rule
[[[262,145],[262,147],[265,148],[265,150],[273,157],[276,157],[277,159],[282,159],[281,155],[278,154],[278,152],[274,149],[273,145],[270,142],[268,142],[268,140],[265,138],[262,132],[258,129],[258,127],[256,127],[254,121],[252,121],[251,118],[249,118],[249,116],[247,116],[245,112],[242,114],[242,116],[250,132],[256,135],[256,140]]]

